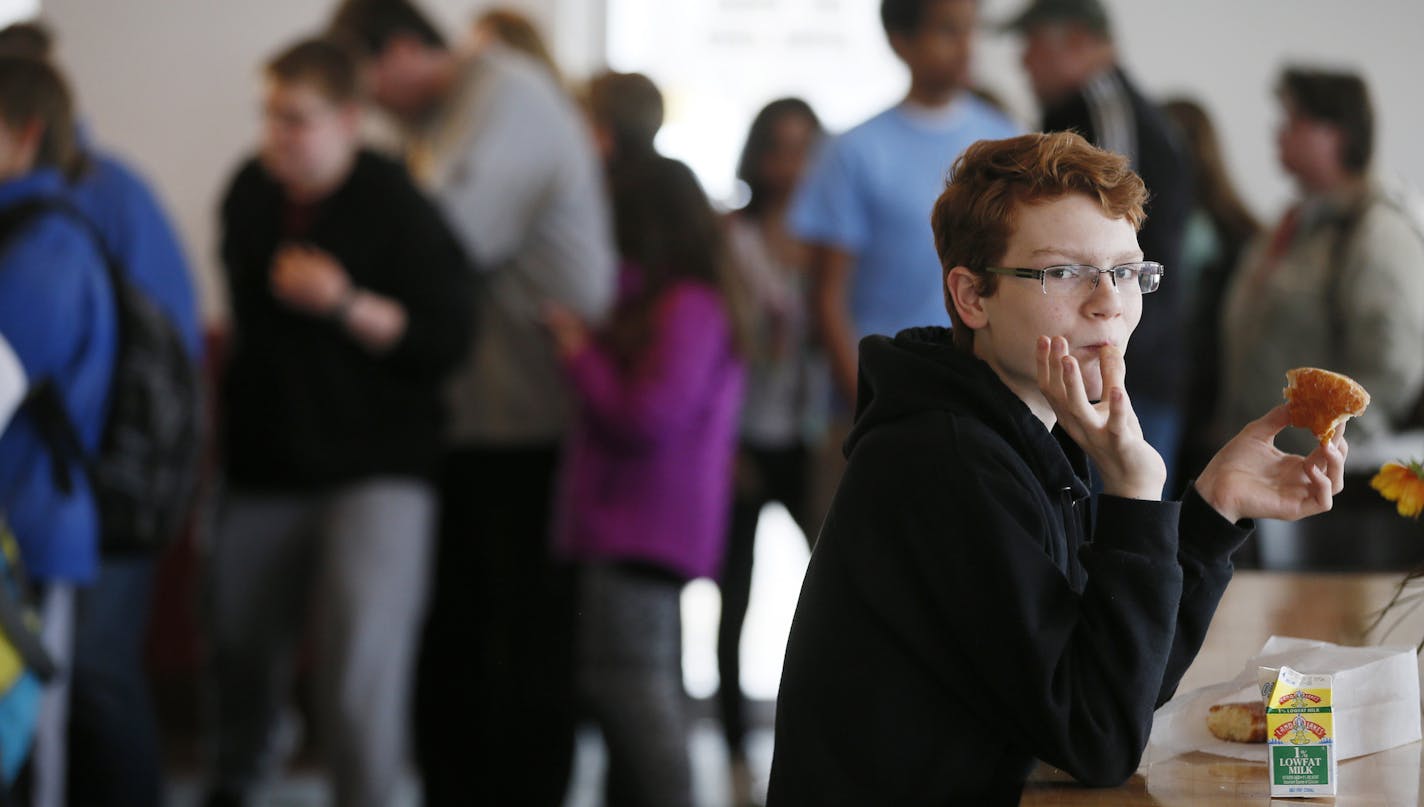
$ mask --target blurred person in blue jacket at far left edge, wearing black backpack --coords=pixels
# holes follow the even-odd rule
[[[0,216],[57,198],[81,171],[70,94],[43,61],[0,57]],[[117,344],[114,292],[83,225],[38,213],[0,252],[0,511],[41,589],[41,639],[61,670],[36,732],[33,804],[64,803],[66,709],[74,589],[98,571],[98,514],[84,473],[68,492],[24,396],[53,383],[83,448],[98,447]]]

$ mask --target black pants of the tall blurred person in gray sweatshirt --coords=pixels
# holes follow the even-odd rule
[[[550,806],[574,757],[572,574],[550,557],[558,451],[446,457],[436,582],[416,673],[429,807]]]

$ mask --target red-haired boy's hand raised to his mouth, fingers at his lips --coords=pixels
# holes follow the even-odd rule
[[[1058,416],[1058,423],[1092,457],[1102,474],[1102,491],[1124,498],[1161,500],[1166,484],[1162,455],[1142,437],[1142,426],[1124,387],[1122,352],[1105,346],[1098,353],[1102,400],[1088,401],[1078,360],[1068,340],[1038,337],[1038,389]]]

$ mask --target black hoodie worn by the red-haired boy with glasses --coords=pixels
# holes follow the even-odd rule
[[[1126,780],[1249,529],[1195,491],[1091,525],[1084,453],[946,329],[862,342],[846,451],[768,804],[1017,804],[1035,757]]]

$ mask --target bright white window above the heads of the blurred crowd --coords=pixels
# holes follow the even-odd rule
[[[608,0],[608,64],[658,84],[658,148],[723,205],[738,204],[736,159],[768,101],[799,95],[842,131],[906,87],[866,0]]]

